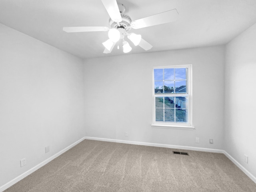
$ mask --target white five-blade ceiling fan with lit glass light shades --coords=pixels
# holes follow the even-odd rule
[[[124,40],[127,36],[135,46],[140,46],[144,50],[150,50],[152,45],[141,38],[141,35],[135,33],[128,33],[131,28],[139,29],[168,22],[173,22],[178,18],[178,12],[176,9],[168,10],[166,12],[158,13],[152,16],[141,18],[132,21],[130,16],[124,14],[125,6],[123,4],[117,4],[116,0],[101,0],[104,7],[106,8],[110,20],[109,27],[106,26],[85,26],[85,27],[64,27],[65,32],[94,32],[94,31],[108,31],[109,39],[102,44],[105,47],[103,53],[112,52],[116,42],[122,40],[123,52],[127,53],[132,50],[129,43]],[[119,45],[117,47],[119,49]]]

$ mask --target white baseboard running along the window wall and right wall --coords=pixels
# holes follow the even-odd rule
[[[135,144],[135,145],[145,145],[145,146],[155,146],[155,147],[166,147],[166,148],[174,148],[174,149],[194,150],[194,151],[203,151],[203,152],[222,153],[222,154],[226,155],[226,157],[229,158],[238,168],[240,168],[240,170],[242,170],[242,172],[244,172],[253,182],[256,183],[256,177],[253,176],[240,163],[238,163],[225,150],[210,149],[210,148],[199,148],[199,147],[190,147],[190,146],[179,146],[179,145],[146,143],[146,142],[136,142],[136,141],[127,141],[127,140],[106,139],[106,138],[97,138],[97,137],[84,137],[84,139],[98,140],[98,141],[108,141],[108,142],[117,142],[117,143],[126,143],[126,144]]]

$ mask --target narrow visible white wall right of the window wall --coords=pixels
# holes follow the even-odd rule
[[[256,24],[227,44],[225,79],[225,150],[256,176]]]

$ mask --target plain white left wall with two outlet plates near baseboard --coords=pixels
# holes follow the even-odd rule
[[[0,187],[84,137],[83,118],[82,60],[0,24]]]

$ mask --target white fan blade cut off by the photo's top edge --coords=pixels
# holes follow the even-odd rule
[[[116,0],[101,0],[110,18],[115,22],[121,22],[122,17]]]

